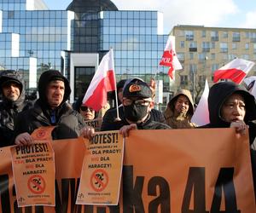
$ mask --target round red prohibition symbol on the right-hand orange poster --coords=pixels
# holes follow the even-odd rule
[[[95,170],[90,176],[90,186],[96,192],[102,192],[108,185],[108,174],[105,170]]]

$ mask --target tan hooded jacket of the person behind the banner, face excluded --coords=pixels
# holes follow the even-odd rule
[[[175,103],[179,95],[185,95],[189,99],[189,110],[185,116],[180,115],[174,116]],[[187,89],[181,89],[172,97],[169,101],[164,116],[166,118],[166,124],[172,127],[172,129],[191,129],[195,128],[196,125],[191,122],[191,118],[194,114],[194,102],[192,96]]]

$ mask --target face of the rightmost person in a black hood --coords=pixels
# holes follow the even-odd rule
[[[239,94],[230,95],[221,107],[221,118],[226,122],[241,121],[245,117],[246,108],[243,97]]]

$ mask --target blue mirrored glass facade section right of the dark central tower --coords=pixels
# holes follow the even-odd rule
[[[148,82],[164,71],[158,64],[168,36],[157,34],[157,11],[103,11],[101,17],[100,49],[114,49],[118,78],[131,75]]]

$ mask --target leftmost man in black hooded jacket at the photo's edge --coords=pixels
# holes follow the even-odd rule
[[[14,139],[17,114],[32,107],[32,101],[25,100],[24,80],[19,72],[1,72],[0,88],[3,96],[0,103],[0,147],[6,147],[10,146]]]

